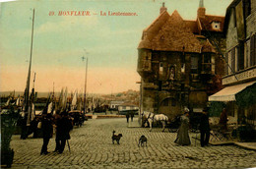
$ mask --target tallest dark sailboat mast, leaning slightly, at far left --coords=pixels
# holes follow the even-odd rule
[[[34,23],[34,9],[32,10],[32,39],[33,39],[33,23]],[[31,70],[32,70],[32,43],[31,43],[30,67],[29,67],[29,73],[28,73],[28,79],[27,79],[27,85],[26,85],[26,93],[25,93],[25,101],[26,101],[25,111],[29,110]]]

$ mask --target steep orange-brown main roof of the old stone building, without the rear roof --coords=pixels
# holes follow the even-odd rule
[[[202,46],[177,11],[171,16],[164,11],[150,27],[143,30],[138,48],[200,53]]]

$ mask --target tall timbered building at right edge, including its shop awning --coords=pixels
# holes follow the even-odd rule
[[[229,122],[239,124],[246,121],[255,128],[256,1],[233,0],[226,9],[224,32],[225,87],[209,100],[226,102]]]

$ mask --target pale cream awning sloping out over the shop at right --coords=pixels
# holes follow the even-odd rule
[[[236,84],[231,86],[226,86],[221,91],[208,97],[209,101],[236,101],[236,94],[247,86],[255,84],[256,82],[250,82],[245,84]]]

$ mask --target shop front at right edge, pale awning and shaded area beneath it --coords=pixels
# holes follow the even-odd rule
[[[235,125],[237,132],[244,135],[246,141],[253,140],[256,130],[256,82],[234,84],[224,87],[219,92],[209,96],[212,111],[215,116],[221,115],[225,107],[228,124]],[[242,131],[242,132],[241,132]],[[252,135],[252,136],[250,136]],[[249,137],[249,138],[247,138]]]

